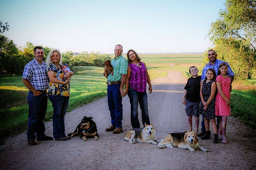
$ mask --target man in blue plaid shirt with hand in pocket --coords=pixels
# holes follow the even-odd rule
[[[22,82],[28,88],[28,121],[27,121],[27,141],[28,145],[37,145],[38,140],[53,140],[46,136],[43,119],[47,109],[46,90],[48,89],[48,76],[46,73],[46,63],[43,62],[43,47],[34,48],[34,60],[25,65]]]

